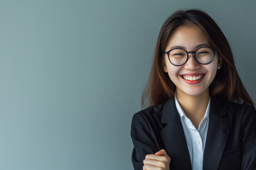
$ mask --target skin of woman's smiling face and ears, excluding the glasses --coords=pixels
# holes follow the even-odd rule
[[[208,38],[201,28],[196,25],[181,26],[171,35],[165,51],[174,47],[181,47],[190,52],[198,47],[210,47]],[[193,54],[189,54],[188,61],[181,66],[174,66],[169,62],[168,55],[164,57],[164,72],[169,74],[171,81],[176,85],[179,96],[198,96],[209,93],[209,86],[213,81],[218,66],[218,54],[210,64],[199,64]],[[194,80],[196,79],[196,80]]]

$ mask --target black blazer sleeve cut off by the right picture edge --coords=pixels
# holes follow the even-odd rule
[[[245,108],[242,118],[242,170],[256,169],[256,111]]]

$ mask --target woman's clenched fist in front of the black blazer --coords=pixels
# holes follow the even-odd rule
[[[155,154],[146,154],[143,170],[169,170],[171,158],[164,149]]]

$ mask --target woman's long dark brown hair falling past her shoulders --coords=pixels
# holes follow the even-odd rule
[[[254,106],[252,98],[235,69],[233,54],[228,40],[218,25],[208,14],[198,10],[176,11],[161,27],[154,62],[149,75],[148,83],[142,94],[142,107],[164,103],[168,98],[174,98],[176,86],[164,72],[162,59],[167,42],[174,30],[180,26],[196,24],[208,36],[210,45],[215,48],[221,60],[221,68],[209,86],[211,96],[219,96],[235,103],[248,103]]]

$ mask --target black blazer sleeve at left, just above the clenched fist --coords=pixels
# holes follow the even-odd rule
[[[134,114],[132,118],[131,137],[134,148],[132,150],[132,164],[134,170],[142,170],[143,160],[146,154],[158,152],[156,144],[151,136],[149,123],[142,113]]]

